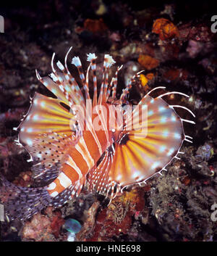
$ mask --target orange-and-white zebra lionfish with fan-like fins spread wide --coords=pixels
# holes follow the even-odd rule
[[[153,98],[150,96],[153,91],[165,87],[153,88],[133,108],[132,115],[128,115],[124,107],[131,106],[127,96],[139,73],[129,80],[117,99],[117,76],[122,66],[117,67],[114,78],[108,83],[108,72],[115,61],[105,54],[98,94],[95,54],[88,54],[90,65],[86,74],[82,70],[80,58],[72,58],[72,65],[77,67],[79,74],[75,80],[67,67],[69,51],[64,65],[56,62],[57,70],[54,68],[53,55],[53,72],[49,77],[41,78],[36,70],[38,80],[55,97],[36,92],[27,115],[18,128],[14,128],[19,131],[17,143],[30,153],[35,182],[46,183],[25,188],[15,186],[1,177],[0,199],[10,219],[25,220],[48,205],[60,207],[80,194],[84,184],[88,191],[97,191],[113,199],[125,187],[135,183],[141,185],[151,176],[166,170],[166,165],[182,153],[179,149],[183,141],[192,139],[184,134],[183,122],[194,122],[179,117],[174,107],[181,107],[195,115],[187,107],[169,105],[162,99],[169,94],[186,94],[172,91]],[[93,102],[89,94],[90,78],[93,83]],[[146,110],[142,123],[141,106],[145,106]],[[92,113],[90,109],[93,109]],[[111,109],[116,111],[113,117],[123,114],[119,118],[123,122],[114,118],[116,123],[112,126],[109,122]],[[79,110],[83,111],[82,115]],[[87,115],[88,111],[90,115]],[[109,118],[106,118],[107,112]]]

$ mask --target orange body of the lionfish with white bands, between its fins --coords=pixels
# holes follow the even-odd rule
[[[51,197],[56,197],[64,189],[81,181],[95,167],[108,144],[112,143],[111,132],[108,136],[107,143],[105,131],[84,131],[76,146],[69,150],[69,157],[62,166],[61,173],[49,184],[47,190]]]

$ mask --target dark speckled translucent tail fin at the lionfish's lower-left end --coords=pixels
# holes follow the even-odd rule
[[[0,175],[0,202],[4,205],[4,218],[27,220],[44,207],[61,207],[72,199],[72,196],[77,196],[82,186],[82,181],[76,181],[56,197],[51,197],[48,186],[40,188],[16,186]]]

